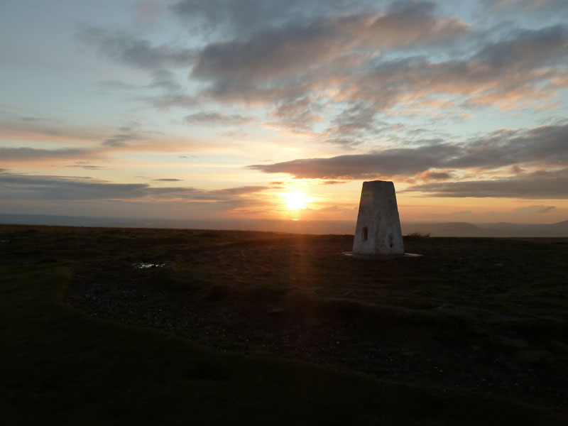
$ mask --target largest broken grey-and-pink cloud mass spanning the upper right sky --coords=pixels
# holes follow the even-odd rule
[[[231,20],[223,17],[226,9],[195,1],[176,8],[184,16],[192,10],[212,21]],[[268,125],[352,148],[376,140],[381,111],[463,120],[479,107],[554,107],[558,89],[568,86],[565,25],[493,29],[475,37],[466,23],[439,16],[425,2],[366,13],[333,8],[324,13],[316,7],[300,15],[284,14],[279,25],[265,19],[266,26],[254,31],[213,38],[191,67],[192,79],[204,83],[197,96],[270,105]],[[440,48],[450,42],[452,49]],[[337,106],[337,115],[322,133],[311,134],[329,116],[322,114],[329,104]]]

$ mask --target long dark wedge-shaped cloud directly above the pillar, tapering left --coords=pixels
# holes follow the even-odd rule
[[[517,131],[501,130],[468,143],[434,143],[391,148],[332,158],[305,158],[249,165],[263,173],[289,173],[294,178],[366,179],[425,173],[426,178],[450,178],[430,169],[495,169],[522,163],[568,163],[568,124]]]

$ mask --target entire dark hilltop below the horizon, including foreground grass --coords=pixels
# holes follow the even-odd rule
[[[553,425],[568,413],[567,239],[406,237],[422,257],[374,261],[344,256],[352,237],[333,235],[0,226],[0,241],[13,419],[101,422],[107,404],[139,424],[155,410],[185,418],[182,406],[243,424]],[[158,383],[154,410],[143,395]],[[43,394],[53,407],[33,396],[38,411],[26,409]]]

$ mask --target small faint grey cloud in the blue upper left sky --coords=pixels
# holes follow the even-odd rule
[[[86,27],[80,37],[112,60],[119,60],[145,70],[162,70],[167,66],[190,65],[195,53],[191,49],[170,45],[152,45],[148,40],[136,38],[125,31],[110,31],[99,27]]]

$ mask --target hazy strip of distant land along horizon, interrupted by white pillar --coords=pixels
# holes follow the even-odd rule
[[[291,232],[293,234],[354,234],[355,221],[306,221],[268,219],[170,220],[113,217],[0,214],[0,224],[51,226],[103,226],[119,228],[220,229]],[[402,222],[403,234],[430,236],[561,237],[568,236],[568,220],[555,224]]]

